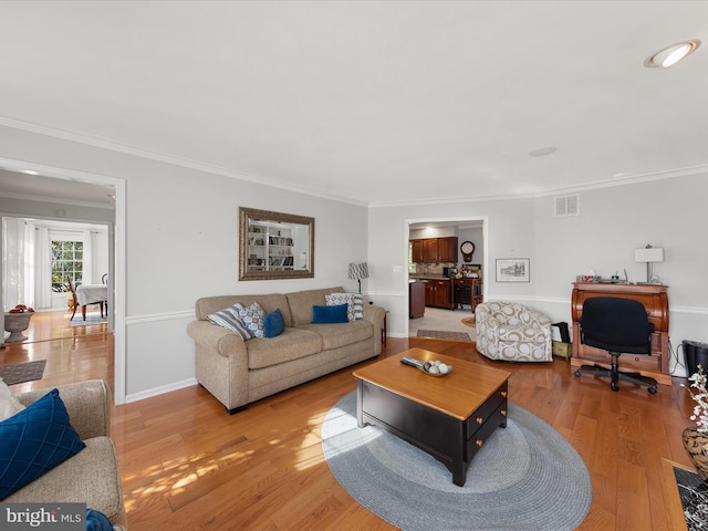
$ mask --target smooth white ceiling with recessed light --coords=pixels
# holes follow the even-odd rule
[[[222,175],[385,205],[708,169],[706,1],[6,0],[0,20],[0,124]]]

